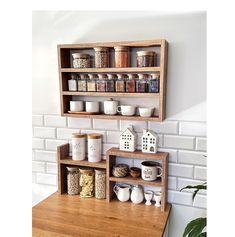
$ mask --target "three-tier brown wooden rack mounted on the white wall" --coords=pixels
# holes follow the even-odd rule
[[[106,42],[106,43],[84,43],[84,44],[65,44],[58,45],[58,63],[59,63],[59,76],[60,76],[60,99],[61,99],[61,115],[69,117],[89,117],[98,119],[119,119],[119,120],[142,120],[142,121],[163,121],[165,119],[166,110],[166,73],[167,73],[167,41],[160,40],[144,40],[144,41],[123,41],[123,42]],[[130,48],[131,63],[130,67],[116,68],[114,64],[114,47],[128,46]],[[94,48],[107,47],[110,50],[110,63],[108,68],[95,68],[91,58],[90,68],[73,68],[72,54],[74,52],[89,53],[94,55]],[[137,67],[136,52],[138,50],[153,50],[157,52],[157,63],[154,67]],[[152,74],[159,73],[159,92],[158,93],[128,93],[128,92],[78,92],[68,91],[68,80],[71,73],[81,74],[99,74],[99,73],[133,73],[133,74]],[[157,114],[152,117],[123,116],[123,115],[105,115],[105,114],[71,114],[69,102],[71,100],[79,100],[83,97],[118,97],[125,98],[126,104],[128,101],[133,101],[137,97],[148,100],[151,97],[151,102],[157,105]],[[133,97],[133,99],[132,99]],[[154,107],[156,105],[154,104]]]

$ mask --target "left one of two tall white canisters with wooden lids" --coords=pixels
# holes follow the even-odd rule
[[[72,134],[72,159],[85,160],[86,152],[86,134],[73,133]]]

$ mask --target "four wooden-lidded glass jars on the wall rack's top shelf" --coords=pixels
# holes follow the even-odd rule
[[[130,52],[128,46],[117,46],[115,50],[115,67],[130,67]],[[109,48],[96,47],[95,51],[95,67],[108,68],[110,67]],[[137,67],[154,67],[156,64],[155,51],[138,51]],[[90,68],[91,56],[85,53],[73,53],[73,67],[74,68]]]

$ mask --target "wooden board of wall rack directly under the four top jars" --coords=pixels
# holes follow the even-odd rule
[[[125,72],[160,72],[160,67],[125,67],[125,68],[61,68],[61,72],[77,73],[125,73]]]

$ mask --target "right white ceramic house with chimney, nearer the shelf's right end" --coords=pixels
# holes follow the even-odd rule
[[[143,130],[141,137],[142,152],[157,153],[158,149],[158,136],[152,131]]]

